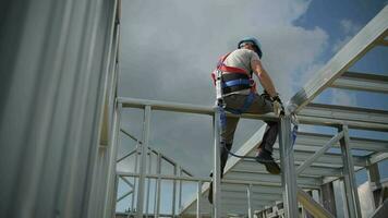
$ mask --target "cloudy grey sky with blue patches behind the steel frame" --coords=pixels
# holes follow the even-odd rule
[[[119,96],[214,104],[210,72],[218,58],[245,36],[259,38],[263,63],[283,101],[299,90],[348,40],[387,3],[386,0],[125,0],[121,19]],[[354,70],[387,73],[376,50]],[[386,56],[385,56],[386,57]],[[330,89],[317,100],[327,104],[388,108],[377,96]],[[381,100],[384,99],[384,100]],[[142,138],[141,110],[125,110],[122,126]],[[233,149],[262,122],[243,120]],[[122,137],[124,152],[130,140]],[[206,116],[155,112],[150,143],[197,175],[207,175],[213,155],[211,119]]]

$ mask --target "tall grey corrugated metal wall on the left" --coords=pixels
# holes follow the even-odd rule
[[[0,2],[0,217],[112,213],[117,4]]]

